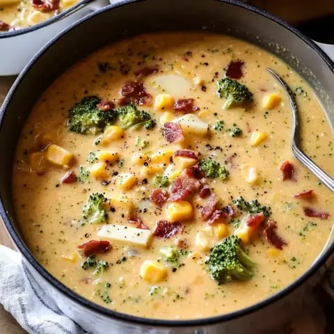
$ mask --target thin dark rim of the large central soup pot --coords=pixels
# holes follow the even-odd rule
[[[90,1],[90,0],[84,0],[84,1]],[[66,35],[67,33],[70,33],[72,28],[79,26],[81,23],[88,21],[91,17],[95,17],[96,15],[100,15],[101,13],[104,13],[106,11],[112,10],[113,8],[118,8],[120,6],[127,6],[130,3],[136,3],[141,2],[145,0],[122,0],[118,3],[110,4],[109,6],[105,6],[103,8],[100,8],[99,10],[96,10],[93,13],[90,13],[86,15],[86,17],[79,19],[78,21],[74,22],[70,26],[68,26],[66,29],[64,29],[61,33],[56,35],[52,40],[47,42],[47,44],[38,51],[33,58],[31,58],[31,61],[24,67],[24,70],[19,74],[17,79],[15,80],[13,86],[10,88],[10,91],[8,95],[6,96],[1,108],[0,108],[0,131],[3,123],[3,117],[6,114],[7,106],[10,102],[10,99],[15,95],[15,90],[19,87],[21,84],[21,81],[24,80],[24,77],[26,76],[26,73],[29,72],[29,69],[33,67],[36,61],[38,61],[38,58],[44,54],[51,45],[54,44],[57,40],[61,39],[63,35]],[[256,13],[257,15],[261,15],[263,17],[266,17],[267,19],[270,19],[273,22],[276,22],[280,26],[283,26],[286,30],[288,30],[290,33],[294,33],[294,35],[297,35],[303,42],[308,45],[313,50],[317,51],[318,56],[326,63],[326,65],[329,67],[331,72],[334,72],[334,63],[327,56],[327,54],[320,48],[318,45],[313,42],[310,38],[306,37],[298,31],[296,28],[288,24],[287,22],[283,21],[283,19],[280,19],[274,15],[271,15],[270,13],[267,13],[265,10],[262,10],[260,8],[257,8],[255,6],[250,6],[244,2],[241,2],[239,0],[213,0],[217,2],[222,3],[228,3],[232,6],[237,6],[244,8],[245,10],[249,10],[253,13]],[[328,260],[328,258],[331,256],[331,254],[334,253],[334,243],[330,246],[327,244],[324,246],[324,248],[327,249],[324,251],[322,250],[321,253],[318,255],[318,257],[315,259],[315,262],[312,263],[308,271],[303,273],[303,275],[299,276],[294,282],[292,282],[290,285],[285,287],[284,289],[280,290],[276,294],[273,294],[269,296],[267,299],[264,299],[258,303],[255,303],[253,305],[250,305],[246,308],[242,308],[241,310],[237,310],[234,312],[230,312],[224,315],[217,315],[214,317],[205,317],[200,319],[180,319],[180,320],[174,320],[174,319],[154,319],[154,318],[145,318],[145,317],[136,317],[134,315],[128,315],[122,312],[117,312],[114,310],[110,310],[108,308],[104,308],[102,305],[98,305],[97,303],[93,303],[92,301],[88,301],[88,299],[85,299],[83,296],[80,296],[79,294],[73,292],[69,287],[66,287],[61,283],[59,280],[54,278],[54,276],[51,275],[42,265],[35,260],[35,257],[33,257],[31,251],[29,248],[24,244],[23,239],[19,236],[18,232],[15,230],[14,225],[10,222],[10,218],[8,214],[6,213],[6,209],[3,205],[3,197],[2,194],[0,194],[0,215],[3,218],[3,222],[10,234],[10,237],[15,242],[15,245],[19,249],[19,251],[22,253],[22,255],[26,258],[26,260],[29,261],[29,263],[33,266],[33,268],[44,278],[47,280],[48,283],[51,283],[56,289],[58,289],[59,292],[62,294],[65,294],[65,296],[70,297],[72,301],[79,303],[81,307],[88,308],[90,310],[93,310],[97,313],[100,313],[104,316],[110,317],[111,319],[117,319],[118,321],[126,321],[132,324],[138,324],[138,325],[146,325],[146,326],[156,326],[156,327],[195,327],[195,326],[209,326],[214,325],[217,323],[221,323],[223,321],[230,321],[233,319],[237,319],[238,317],[244,317],[246,315],[250,315],[251,313],[260,310],[261,308],[264,308],[268,305],[271,305],[272,303],[275,303],[279,299],[282,299],[284,296],[287,296],[287,294],[293,292],[299,285],[302,283],[305,283],[308,278],[310,278],[321,266],[325,264],[325,262]],[[333,232],[333,229],[332,229]],[[331,234],[329,234],[329,237]],[[328,238],[329,238],[328,237]]]

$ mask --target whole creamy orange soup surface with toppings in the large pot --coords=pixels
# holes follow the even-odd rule
[[[267,67],[296,93],[303,149],[333,174],[314,93],[247,42],[140,35],[62,74],[13,169],[38,261],[86,299],[161,319],[239,310],[301,276],[326,244],[334,198],[292,156],[289,102]]]

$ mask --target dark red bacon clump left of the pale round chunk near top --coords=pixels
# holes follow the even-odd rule
[[[120,90],[120,95],[124,97],[120,99],[121,105],[134,102],[138,106],[149,106],[152,103],[152,95],[146,92],[142,82],[126,81]]]

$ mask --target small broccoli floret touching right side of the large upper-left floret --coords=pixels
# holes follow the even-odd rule
[[[135,125],[136,127],[142,125],[145,129],[152,129],[156,124],[149,113],[138,110],[133,103],[118,109],[118,115],[123,129],[129,129]]]

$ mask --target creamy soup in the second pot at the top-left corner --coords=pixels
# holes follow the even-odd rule
[[[33,26],[54,17],[78,0],[0,0],[0,33]]]

